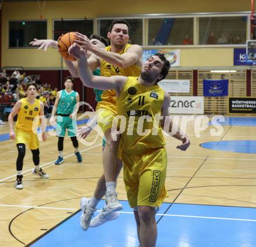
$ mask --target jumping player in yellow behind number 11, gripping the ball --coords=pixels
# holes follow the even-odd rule
[[[93,53],[88,58],[88,65],[91,71],[97,67],[101,69],[101,75],[110,77],[112,75],[138,76],[142,65],[142,49],[138,45],[129,45],[129,24],[125,20],[114,20],[108,31],[108,38],[111,45],[102,49],[94,45],[85,35],[76,33],[76,42],[85,50]],[[40,45],[39,49],[45,50],[52,46],[58,48],[58,43],[51,40],[34,39],[31,45]],[[65,60],[67,68],[73,77],[79,77],[77,63]],[[106,145],[103,151],[104,175],[102,175],[95,188],[92,198],[81,199],[81,210],[84,211],[84,219],[80,224],[84,230],[87,230],[91,217],[96,210],[100,199],[104,196],[106,205],[101,210],[100,215],[92,221],[90,226],[99,226],[105,221],[116,219],[119,213],[116,210],[122,209],[116,194],[116,178],[122,169],[122,162],[117,162],[118,141],[114,141],[111,136],[112,120],[116,116],[116,94],[113,90],[107,90],[101,95],[102,101],[98,103],[98,125],[102,128]],[[108,216],[108,217],[105,217]],[[99,221],[99,219],[101,221]]]

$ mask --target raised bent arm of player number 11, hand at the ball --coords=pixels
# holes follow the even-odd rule
[[[97,77],[94,76],[88,67],[86,59],[86,51],[81,46],[74,43],[69,48],[69,53],[77,60],[77,68],[79,77],[84,86],[89,88],[97,88],[101,90],[115,89],[119,93],[126,83],[127,77],[116,75],[113,77]]]

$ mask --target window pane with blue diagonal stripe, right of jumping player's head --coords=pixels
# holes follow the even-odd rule
[[[193,45],[193,18],[149,19],[148,45]]]

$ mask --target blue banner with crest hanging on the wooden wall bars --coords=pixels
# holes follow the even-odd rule
[[[204,96],[206,97],[221,97],[227,96],[229,80],[206,80],[202,81],[204,85]]]

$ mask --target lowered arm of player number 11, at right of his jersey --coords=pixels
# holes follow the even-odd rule
[[[172,118],[170,117],[169,114],[169,106],[170,95],[169,93],[165,93],[161,114],[163,117],[163,119],[161,119],[161,127],[166,133],[170,133],[172,132],[172,129],[176,129],[176,132],[172,136],[182,141],[182,144],[177,146],[176,148],[179,148],[182,151],[186,151],[187,148],[190,146],[189,137],[186,135],[186,133],[183,133],[182,130],[173,123]]]

